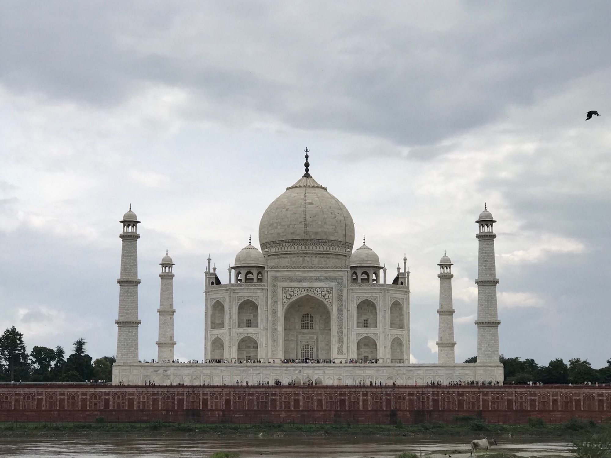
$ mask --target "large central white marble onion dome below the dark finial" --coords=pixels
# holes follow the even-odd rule
[[[354,245],[354,222],[326,187],[302,176],[263,213],[259,242],[270,254],[313,251],[346,256]]]

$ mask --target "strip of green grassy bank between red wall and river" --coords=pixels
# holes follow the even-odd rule
[[[0,423],[0,437],[53,435],[62,432],[66,435],[133,435],[141,437],[342,437],[344,435],[377,437],[464,437],[480,435],[488,437],[537,436],[537,437],[607,437],[611,434],[611,424],[598,424],[588,420],[572,419],[563,424],[535,422],[533,425],[488,424],[482,420],[468,423],[457,421],[446,424],[438,421],[419,424],[368,425],[368,424],[202,424],[202,423],[111,423],[98,418],[92,423]],[[502,458],[502,457],[497,457]],[[508,458],[508,457],[506,457]],[[584,458],[587,458],[584,456]],[[593,457],[601,458],[601,457]]]

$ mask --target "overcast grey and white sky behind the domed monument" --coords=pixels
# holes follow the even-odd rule
[[[131,202],[140,356],[169,249],[176,352],[203,358],[207,255],[225,282],[307,146],[357,241],[390,272],[407,253],[415,360],[436,362],[444,249],[456,359],[477,352],[488,202],[502,353],[605,365],[609,17],[608,1],[2,2],[0,326],[115,354]]]

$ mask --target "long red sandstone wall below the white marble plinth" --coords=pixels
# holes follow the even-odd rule
[[[611,418],[611,387],[0,385],[0,421],[548,423]]]

